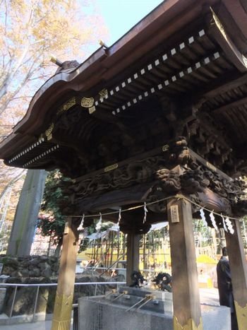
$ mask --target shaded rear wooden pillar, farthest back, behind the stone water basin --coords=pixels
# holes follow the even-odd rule
[[[131,273],[139,270],[139,241],[140,235],[134,232],[127,235],[127,269],[126,285],[131,285]]]

